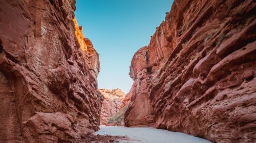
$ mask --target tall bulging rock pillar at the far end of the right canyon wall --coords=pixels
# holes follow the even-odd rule
[[[148,55],[147,47],[144,46],[138,50],[130,67],[130,76],[134,80],[132,89],[128,94],[131,94],[129,108],[126,111],[125,126],[153,126],[153,107],[148,99],[148,85],[147,85],[147,68]]]

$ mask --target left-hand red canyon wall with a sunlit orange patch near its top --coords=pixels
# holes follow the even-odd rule
[[[99,58],[75,1],[0,1],[0,142],[74,142],[99,129]]]

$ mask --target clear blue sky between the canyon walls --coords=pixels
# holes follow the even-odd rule
[[[129,92],[134,53],[148,45],[172,0],[77,0],[75,16],[100,58],[99,88]]]

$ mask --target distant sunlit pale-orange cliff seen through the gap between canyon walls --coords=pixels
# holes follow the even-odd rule
[[[104,97],[100,113],[100,124],[106,125],[110,117],[121,109],[125,93],[119,88],[113,90],[99,89],[99,91]]]

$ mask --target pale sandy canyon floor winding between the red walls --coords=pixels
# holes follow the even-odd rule
[[[126,136],[129,140],[119,140],[120,142],[168,142],[168,143],[204,143],[209,140],[187,135],[179,132],[170,132],[155,128],[127,128],[119,126],[100,126],[96,132],[99,135]]]

